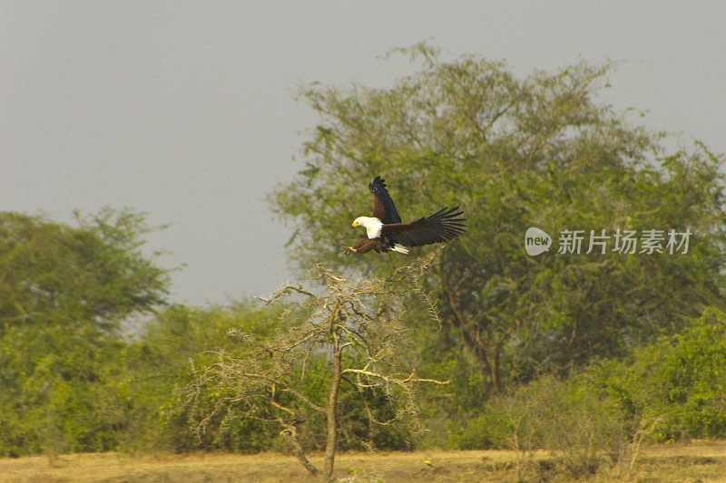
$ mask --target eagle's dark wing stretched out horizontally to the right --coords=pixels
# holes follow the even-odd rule
[[[438,210],[430,217],[423,217],[411,223],[384,224],[381,237],[387,237],[403,246],[421,246],[446,242],[466,231],[466,218],[460,218],[459,207]]]

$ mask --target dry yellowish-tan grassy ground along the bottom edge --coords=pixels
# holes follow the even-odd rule
[[[320,464],[320,457],[312,457]],[[418,451],[415,453],[343,454],[336,474],[343,481],[568,481],[556,457],[536,454],[519,465],[512,451]],[[726,441],[643,449],[627,468],[603,466],[581,480],[591,482],[726,482]],[[313,482],[296,459],[279,454],[253,456],[193,454],[130,456],[117,453],[65,455],[51,464],[45,457],[0,459],[0,481],[181,481]]]

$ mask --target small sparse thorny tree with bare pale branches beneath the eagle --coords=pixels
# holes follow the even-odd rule
[[[341,430],[338,395],[348,384],[361,395],[370,424],[390,424],[407,420],[418,428],[414,398],[419,382],[444,384],[417,376],[416,368],[404,368],[407,329],[401,322],[402,297],[420,290],[397,282],[416,280],[431,263],[399,268],[386,279],[356,281],[318,266],[311,276],[325,285],[321,294],[299,285],[286,286],[270,298],[285,302],[283,317],[301,321],[283,329],[273,338],[260,338],[242,330],[232,331],[242,343],[239,353],[218,352],[217,362],[196,372],[190,386],[188,406],[205,404],[202,394],[214,393],[213,406],[199,430],[209,421],[248,418],[275,424],[289,441],[302,465],[321,481],[332,481],[338,432]],[[420,292],[419,292],[420,294]],[[316,364],[326,375],[311,371]],[[396,408],[381,418],[380,408],[368,404],[372,394],[382,394]],[[319,469],[306,456],[299,434],[306,421],[325,420],[325,458]]]

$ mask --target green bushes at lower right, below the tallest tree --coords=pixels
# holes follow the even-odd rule
[[[622,361],[559,379],[543,375],[493,398],[450,431],[457,449],[510,448],[532,466],[535,449],[573,478],[603,464],[632,469],[644,440],[720,438],[726,431],[726,314],[709,307],[677,335]]]

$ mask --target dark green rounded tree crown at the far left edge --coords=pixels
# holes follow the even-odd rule
[[[0,331],[91,324],[113,332],[163,303],[168,271],[142,255],[143,215],[104,208],[76,220],[73,228],[0,213]]]

